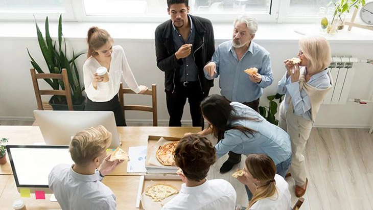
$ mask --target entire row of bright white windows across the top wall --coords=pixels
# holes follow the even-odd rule
[[[317,22],[330,0],[189,0],[190,13],[215,22],[232,22],[247,13],[259,22]],[[161,22],[169,18],[167,0],[0,0],[0,20]]]

